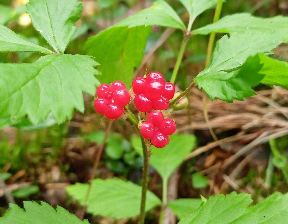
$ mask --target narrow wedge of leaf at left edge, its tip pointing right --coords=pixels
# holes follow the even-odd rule
[[[32,51],[51,54],[52,51],[24,40],[12,30],[0,24],[0,51]]]

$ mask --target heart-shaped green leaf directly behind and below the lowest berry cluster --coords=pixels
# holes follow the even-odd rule
[[[159,175],[168,180],[173,171],[183,162],[196,144],[194,135],[177,134],[171,135],[171,142],[163,148],[152,146],[150,164],[157,170]],[[132,138],[132,146],[143,156],[140,138]],[[181,150],[179,150],[181,149]]]

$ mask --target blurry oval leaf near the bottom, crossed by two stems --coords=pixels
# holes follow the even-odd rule
[[[66,188],[80,204],[84,198],[88,184],[76,183]],[[93,215],[107,216],[115,219],[133,217],[140,213],[141,187],[130,181],[118,178],[94,179],[88,199],[87,211]],[[147,191],[145,211],[160,205],[155,194]]]

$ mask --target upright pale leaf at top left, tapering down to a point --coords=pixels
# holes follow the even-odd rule
[[[56,53],[64,53],[79,20],[83,3],[77,0],[30,0],[27,10],[33,26]]]

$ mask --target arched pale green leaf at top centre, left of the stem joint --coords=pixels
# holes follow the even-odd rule
[[[149,8],[121,20],[112,27],[119,26],[167,26],[185,30],[185,25],[174,9],[163,0],[155,1]]]

